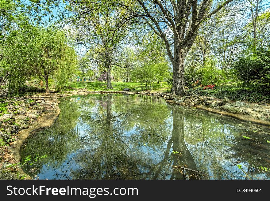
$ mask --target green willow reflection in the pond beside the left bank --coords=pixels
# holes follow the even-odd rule
[[[47,157],[42,161],[35,162],[34,167],[23,166],[25,172],[29,173],[30,168],[37,168],[37,171],[39,171],[47,163],[57,169],[66,160],[68,154],[82,146],[78,141],[78,129],[76,127],[80,114],[79,105],[76,104],[77,101],[73,97],[61,99],[60,104],[65,105],[65,107],[62,108],[55,125],[37,131],[37,135],[29,138],[27,146],[21,150],[21,158],[28,155],[33,158],[36,154],[39,156],[47,155]],[[33,174],[29,173],[29,175]]]

